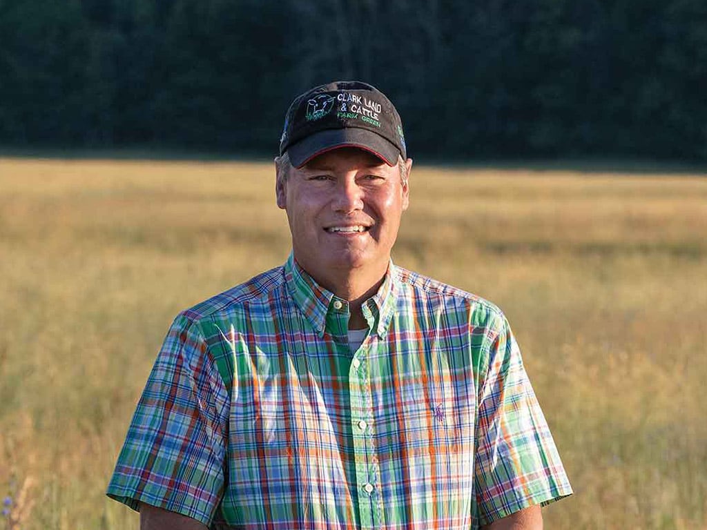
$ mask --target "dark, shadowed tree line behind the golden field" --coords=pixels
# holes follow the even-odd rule
[[[273,154],[310,86],[411,155],[707,158],[704,0],[0,0],[0,144]]]

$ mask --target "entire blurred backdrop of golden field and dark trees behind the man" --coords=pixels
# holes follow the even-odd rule
[[[705,0],[0,0],[0,529],[137,529],[156,352],[287,258],[282,121],[337,78],[402,115],[397,264],[513,326],[546,528],[707,530]]]

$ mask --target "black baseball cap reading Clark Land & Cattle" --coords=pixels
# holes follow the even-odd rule
[[[285,116],[280,155],[295,167],[340,147],[358,147],[387,165],[407,159],[400,115],[385,94],[361,81],[334,81],[299,95]]]

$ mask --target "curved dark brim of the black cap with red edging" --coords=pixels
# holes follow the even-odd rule
[[[387,165],[396,165],[400,151],[382,136],[366,129],[327,129],[307,136],[287,148],[290,162],[302,167],[315,156],[341,147],[357,147],[377,156]]]

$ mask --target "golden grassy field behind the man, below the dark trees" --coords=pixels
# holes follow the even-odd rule
[[[288,246],[270,165],[0,159],[0,528],[136,529],[103,491],[168,324]],[[395,260],[508,314],[546,528],[707,529],[707,179],[418,167]]]

